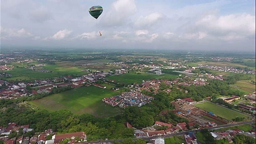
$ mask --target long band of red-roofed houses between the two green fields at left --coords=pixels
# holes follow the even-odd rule
[[[72,76],[65,76],[61,78],[45,79],[45,80],[34,80],[31,82],[8,82],[0,80],[0,86],[5,84],[4,89],[0,89],[0,99],[12,99],[22,96],[29,96],[36,93],[48,93],[51,92],[54,87],[64,87],[70,86],[72,88],[93,85],[100,88],[106,88],[100,84],[95,84],[95,82],[103,77],[110,76],[111,72],[101,72],[101,71],[91,71],[88,70],[90,74],[81,77],[73,78]],[[28,92],[26,86],[29,85],[32,90]]]

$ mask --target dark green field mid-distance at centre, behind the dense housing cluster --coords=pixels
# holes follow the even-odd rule
[[[114,80],[119,83],[125,83],[125,84],[133,84],[133,83],[141,83],[143,80],[149,80],[149,79],[170,79],[172,77],[178,77],[178,75],[172,75],[172,74],[163,74],[163,75],[153,75],[148,73],[125,73],[122,75],[116,75],[116,76],[108,76],[106,77],[109,80]]]

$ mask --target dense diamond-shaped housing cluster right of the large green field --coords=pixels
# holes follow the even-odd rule
[[[126,108],[128,106],[141,107],[151,102],[153,99],[154,98],[144,95],[138,91],[131,90],[130,92],[124,92],[110,98],[104,98],[102,101],[112,107],[119,106],[120,108]]]

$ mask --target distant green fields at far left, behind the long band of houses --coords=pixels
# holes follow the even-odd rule
[[[86,71],[82,71],[76,67],[61,67],[58,65],[47,65],[44,66],[46,70],[50,70],[53,72],[44,73],[40,71],[33,71],[28,68],[13,68],[12,70],[4,71],[8,74],[11,74],[12,77],[7,78],[7,80],[34,80],[34,79],[45,79],[51,77],[59,77],[59,76],[68,76],[68,75],[85,75]]]

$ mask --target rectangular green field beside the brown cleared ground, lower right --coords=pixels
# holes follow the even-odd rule
[[[222,118],[225,118],[227,120],[232,120],[233,118],[236,118],[236,116],[245,117],[245,118],[248,117],[247,115],[238,113],[238,112],[233,111],[233,110],[228,109],[228,108],[218,106],[218,105],[213,104],[211,102],[203,102],[203,103],[195,104],[194,106],[197,107],[197,108],[201,108],[205,111],[212,112],[213,114],[215,114],[217,116],[220,116]]]

